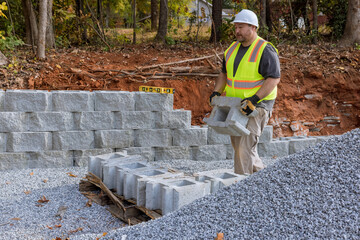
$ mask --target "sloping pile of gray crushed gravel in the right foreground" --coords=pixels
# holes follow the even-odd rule
[[[359,239],[360,130],[102,239]],[[93,235],[74,239],[93,239]]]

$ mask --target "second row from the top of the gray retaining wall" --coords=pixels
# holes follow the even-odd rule
[[[191,111],[0,112],[0,132],[110,129],[186,129]]]

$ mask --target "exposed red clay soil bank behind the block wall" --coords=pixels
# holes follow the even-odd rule
[[[270,124],[274,137],[342,134],[360,127],[360,51],[331,45],[278,46],[281,82]],[[218,47],[216,52],[223,52]],[[192,124],[204,124],[211,112],[208,97],[216,77],[172,76],[154,79],[168,68],[140,70],[149,65],[213,55],[212,46],[128,45],[112,53],[91,50],[59,50],[48,53],[45,62],[19,57],[24,66],[14,77],[0,69],[4,89],[121,90],[138,91],[140,85],[175,88],[174,108],[192,111]],[[187,72],[216,73],[219,58],[175,64],[191,67]],[[136,72],[136,73],[134,73]],[[134,73],[133,75],[130,75]],[[151,73],[146,75],[144,73]],[[163,76],[161,76],[163,77]]]

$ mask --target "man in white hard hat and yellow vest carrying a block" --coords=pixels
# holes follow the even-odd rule
[[[280,82],[280,61],[277,49],[257,35],[259,27],[256,14],[243,9],[233,21],[236,42],[224,53],[222,71],[210,96],[220,96],[242,100],[241,112],[250,115],[256,108],[258,115],[249,117],[246,128],[249,136],[231,136],[234,148],[234,168],[238,174],[252,174],[263,169],[257,144],[269,121]]]

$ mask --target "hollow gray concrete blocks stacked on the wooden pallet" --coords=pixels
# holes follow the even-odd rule
[[[163,215],[246,177],[232,170],[184,176],[182,172],[156,168],[126,151],[90,157],[88,170],[125,199],[150,210],[161,210]]]

